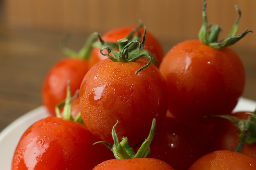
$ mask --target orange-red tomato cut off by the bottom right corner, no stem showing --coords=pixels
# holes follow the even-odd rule
[[[255,170],[256,161],[230,150],[210,152],[195,161],[188,170]]]

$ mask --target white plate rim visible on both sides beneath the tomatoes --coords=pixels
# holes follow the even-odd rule
[[[256,101],[241,98],[234,111],[254,111]],[[29,126],[37,120],[49,116],[45,107],[40,106],[22,115],[0,133],[0,166],[1,170],[11,170],[11,160],[18,141]]]

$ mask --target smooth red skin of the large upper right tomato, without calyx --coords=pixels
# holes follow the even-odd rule
[[[238,55],[228,47],[216,50],[199,40],[174,46],[159,70],[168,86],[168,109],[178,119],[231,113],[245,86]]]

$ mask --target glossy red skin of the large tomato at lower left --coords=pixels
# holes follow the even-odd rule
[[[40,119],[22,135],[12,161],[12,170],[91,170],[112,152],[87,128],[57,117]]]

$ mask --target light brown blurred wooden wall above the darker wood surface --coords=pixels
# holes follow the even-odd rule
[[[197,38],[202,23],[202,0],[6,0],[11,28],[49,29],[66,33],[105,32],[119,26],[137,25],[138,16],[159,39],[182,41]],[[242,11],[238,33],[256,28],[255,0],[207,0],[209,23],[229,33]],[[256,31],[256,30],[255,30]],[[256,34],[239,43],[255,49]]]

